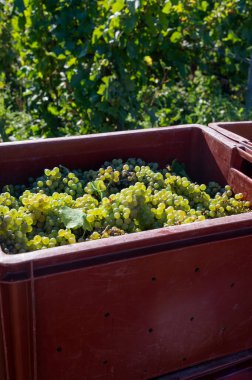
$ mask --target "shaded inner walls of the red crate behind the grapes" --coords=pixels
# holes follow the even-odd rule
[[[26,183],[59,164],[97,169],[113,158],[142,158],[165,166],[177,159],[191,179],[227,183],[232,147],[207,130],[186,126],[0,146],[0,186]]]

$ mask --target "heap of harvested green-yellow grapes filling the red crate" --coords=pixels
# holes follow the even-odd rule
[[[98,170],[45,169],[0,193],[0,244],[15,254],[249,212],[229,185],[193,182],[184,167],[114,159]]]

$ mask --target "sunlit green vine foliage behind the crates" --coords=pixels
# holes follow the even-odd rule
[[[2,140],[242,120],[251,0],[0,0]]]

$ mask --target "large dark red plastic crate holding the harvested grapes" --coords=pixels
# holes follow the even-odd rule
[[[251,156],[206,127],[0,144],[1,184],[43,168],[185,162],[252,200]],[[0,252],[0,379],[149,379],[252,347],[252,215]]]

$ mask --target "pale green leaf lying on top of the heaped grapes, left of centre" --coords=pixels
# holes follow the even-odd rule
[[[79,208],[73,209],[67,206],[59,209],[59,215],[66,228],[80,228],[91,231],[86,214]]]

